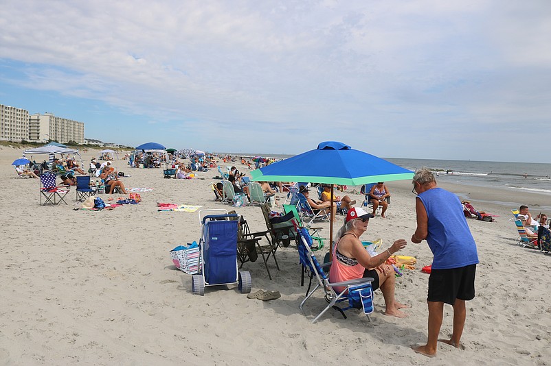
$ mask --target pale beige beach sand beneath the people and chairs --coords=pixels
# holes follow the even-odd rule
[[[95,151],[83,154],[85,163]],[[510,208],[545,202],[542,195],[446,185],[469,193],[478,210],[496,222],[469,220],[480,256],[476,297],[467,303],[465,350],[440,345],[436,358],[414,353],[427,339],[427,280],[431,264],[426,242],[409,241],[416,227],[410,182],[390,182],[387,219],[370,221],[364,240],[382,238],[383,249],[407,239],[403,255],[418,259],[414,271],[396,280],[396,297],[412,306],[408,317],[383,315],[376,291],[372,322],[357,311],[342,319],[325,306],[319,291],[302,314],[296,249],[278,249],[280,270],[262,260],[246,263],[253,291],[280,291],[278,300],[249,300],[237,286],[191,293],[191,276],[176,269],[169,250],[198,241],[198,212],[158,212],[157,202],[224,208],[208,187],[217,171],[194,180],[162,178],[159,169],[128,169],[115,160],[127,188],[153,187],[143,202],[91,212],[68,205],[39,206],[38,180],[16,180],[11,162],[20,149],[0,150],[1,230],[0,365],[548,365],[551,363],[551,256],[516,245]],[[36,158],[36,157],[35,157]],[[37,159],[38,160],[38,159]],[[243,169],[246,171],[246,168]],[[348,195],[361,202],[363,196]],[[283,197],[282,194],[278,194]],[[491,196],[491,197],[489,197]],[[109,195],[100,195],[106,199]],[[114,197],[117,197],[115,195]],[[488,198],[489,197],[489,198]],[[281,202],[283,199],[281,199]],[[510,202],[501,206],[491,202]],[[264,230],[258,206],[236,208],[252,230]],[[537,208],[532,214],[537,215]],[[548,212],[551,213],[551,212]],[[321,223],[328,236],[328,223]],[[324,250],[319,253],[322,257]],[[440,337],[449,337],[451,306],[445,306]]]

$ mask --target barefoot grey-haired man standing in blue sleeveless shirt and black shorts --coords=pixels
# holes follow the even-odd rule
[[[434,174],[427,168],[416,171],[413,184],[417,229],[412,242],[426,239],[434,254],[427,296],[429,336],[427,344],[414,347],[414,351],[432,357],[438,341],[462,349],[465,301],[475,297],[478,254],[459,198],[438,188]],[[453,306],[453,332],[451,339],[438,339],[445,303]]]

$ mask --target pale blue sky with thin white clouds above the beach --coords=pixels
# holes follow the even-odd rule
[[[551,1],[3,0],[0,104],[128,146],[550,162]]]

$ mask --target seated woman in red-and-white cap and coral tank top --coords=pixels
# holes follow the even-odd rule
[[[353,207],[348,210],[346,222],[335,235],[333,246],[333,264],[329,271],[330,282],[342,282],[356,278],[373,278],[373,290],[381,289],[385,298],[385,315],[403,318],[406,316],[401,308],[408,308],[396,301],[394,297],[394,268],[385,265],[392,254],[403,249],[407,242],[398,239],[381,254],[370,256],[363,247],[359,237],[366,232],[372,214],[362,208]],[[337,289],[342,291],[343,289]]]

